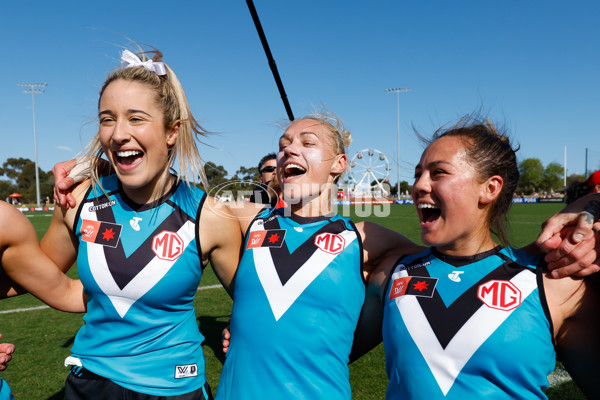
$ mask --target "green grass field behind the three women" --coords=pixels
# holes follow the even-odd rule
[[[540,224],[562,208],[562,204],[519,204],[511,211],[510,221],[513,245],[522,246],[532,241]],[[339,210],[340,212],[342,210]],[[364,215],[368,209],[357,210]],[[374,210],[377,211],[377,210]],[[370,220],[394,229],[419,242],[420,230],[412,206],[392,206],[386,218],[355,217],[355,221]],[[41,237],[50,223],[50,216],[31,216]],[[73,268],[69,275],[75,277]],[[231,300],[222,288],[202,289],[217,285],[218,280],[207,268],[198,290],[195,305],[198,324],[205,335],[204,354],[211,387],[216,389],[224,356],[221,352],[221,331],[227,324]],[[30,295],[0,302],[0,333],[3,341],[17,346],[8,370],[1,372],[17,400],[62,399],[62,387],[67,375],[63,361],[69,353],[82,316],[49,308],[15,312],[14,310],[40,307],[43,303]],[[350,380],[354,399],[383,399],[387,385],[384,370],[383,347],[380,345],[350,366]],[[547,391],[550,399],[584,399],[570,381],[552,386]]]

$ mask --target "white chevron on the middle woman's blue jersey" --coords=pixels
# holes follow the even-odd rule
[[[356,240],[356,232],[353,231],[344,231],[340,235],[346,240],[346,247]],[[304,289],[337,257],[337,254],[317,249],[285,285],[282,285],[270,249],[256,247],[252,250],[258,279],[265,290],[276,321],[279,321]]]

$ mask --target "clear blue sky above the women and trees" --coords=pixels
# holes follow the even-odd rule
[[[482,109],[504,122],[520,159],[600,168],[600,3],[595,1],[255,0],[296,117],[313,105],[352,131],[352,158],[374,148],[411,182],[422,151],[412,127]],[[12,1],[0,12],[0,162],[73,157],[96,130],[98,89],[131,38],[164,53],[209,131],[200,151],[233,175],[277,148],[285,109],[243,0]]]

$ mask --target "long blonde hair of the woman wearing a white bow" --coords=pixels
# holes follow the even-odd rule
[[[139,46],[137,56],[141,61],[148,60],[148,54],[153,54],[151,60],[154,62],[162,62],[166,69],[165,75],[157,75],[153,71],[149,71],[143,66],[134,67],[122,67],[112,71],[104,81],[102,88],[100,89],[100,96],[98,98],[98,106],[100,105],[100,99],[104,94],[104,90],[114,81],[125,80],[130,82],[140,82],[145,84],[154,92],[154,100],[156,104],[160,106],[163,111],[163,120],[165,130],[169,130],[175,126],[177,122],[180,123],[179,133],[177,140],[173,146],[169,148],[167,163],[165,164],[163,174],[168,174],[169,169],[175,163],[175,159],[178,161],[179,173],[177,174],[177,182],[184,181],[187,185],[191,182],[195,183],[199,178],[204,184],[204,187],[208,187],[206,184],[206,175],[204,173],[202,158],[198,151],[196,144],[196,135],[205,136],[208,134],[200,124],[196,121],[190,106],[187,102],[183,87],[177,79],[175,72],[162,61],[162,53],[156,49],[151,51],[143,51]],[[104,154],[104,150],[100,144],[100,136],[96,134],[94,139],[88,145],[85,153],[85,158],[90,161],[91,166],[91,179],[92,185],[100,185],[101,175],[101,157]],[[161,186],[158,187],[159,193],[166,191],[165,185],[168,180],[162,180]],[[104,191],[104,189],[102,189]]]

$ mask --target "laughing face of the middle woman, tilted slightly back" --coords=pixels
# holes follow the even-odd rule
[[[331,135],[321,122],[301,119],[279,139],[277,174],[288,204],[316,198],[344,172],[346,155],[335,154]]]

